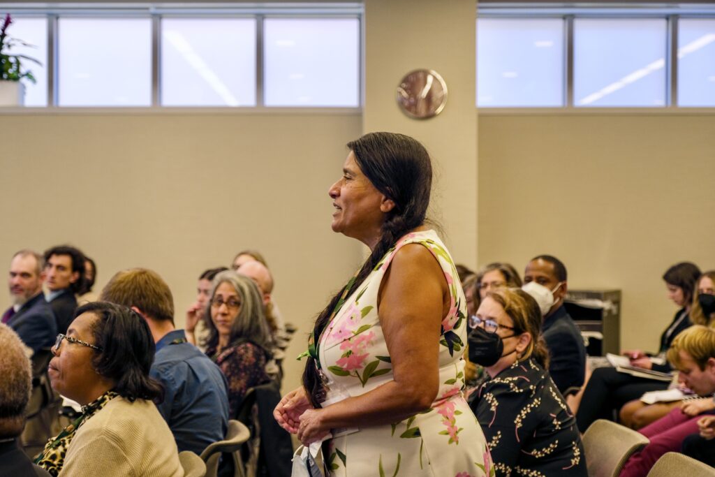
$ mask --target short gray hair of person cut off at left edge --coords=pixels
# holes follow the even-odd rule
[[[19,436],[32,389],[30,360],[19,336],[0,324],[0,438]]]

